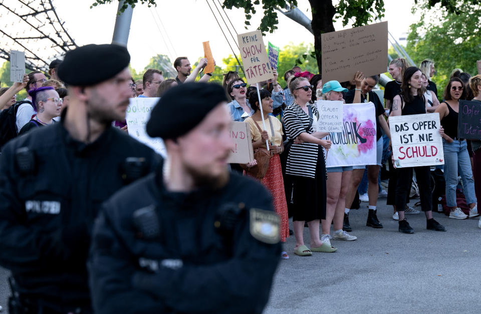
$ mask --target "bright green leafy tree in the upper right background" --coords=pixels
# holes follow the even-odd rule
[[[435,62],[437,74],[433,79],[438,91],[447,85],[449,75],[455,68],[471,75],[477,74],[476,60],[481,59],[479,1],[416,2],[418,7],[415,9],[421,13],[421,18],[411,25],[406,47],[416,66],[424,59]],[[440,94],[442,92],[438,93],[442,97]]]

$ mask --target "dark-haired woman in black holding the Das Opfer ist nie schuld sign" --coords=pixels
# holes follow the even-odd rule
[[[394,97],[391,116],[407,116],[426,113],[426,100],[422,96],[421,71],[416,67],[409,67],[404,71],[401,84],[401,93]],[[442,128],[440,129],[443,134]],[[393,135],[394,136],[394,135]],[[426,228],[436,231],[446,231],[441,224],[432,218],[430,167],[406,167],[397,168],[396,182],[396,209],[399,215],[399,232],[414,233],[413,228],[404,218],[406,206],[406,193],[411,187],[412,171],[416,173],[416,180],[419,187],[421,209],[426,215]]]

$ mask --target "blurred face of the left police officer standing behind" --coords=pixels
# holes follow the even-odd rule
[[[90,117],[102,123],[124,120],[129,98],[132,97],[130,82],[130,71],[125,68],[112,79],[86,88]]]

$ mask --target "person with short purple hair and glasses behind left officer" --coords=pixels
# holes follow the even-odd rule
[[[60,116],[62,109],[62,101],[59,94],[50,86],[31,90],[29,95],[32,97],[32,105],[37,114],[22,127],[19,135],[25,134],[32,129],[55,123],[54,118]]]

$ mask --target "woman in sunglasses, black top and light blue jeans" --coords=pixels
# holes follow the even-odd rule
[[[444,128],[442,149],[444,151],[443,169],[446,181],[446,205],[451,210],[449,218],[454,219],[466,219],[468,217],[457,207],[456,203],[458,169],[460,170],[466,203],[470,209],[469,218],[479,216],[466,140],[457,137],[459,99],[464,99],[465,94],[464,83],[457,77],[451,78],[444,90],[443,98],[445,101],[435,111],[439,113],[439,119]]]

